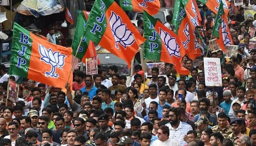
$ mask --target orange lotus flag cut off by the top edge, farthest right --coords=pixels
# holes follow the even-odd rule
[[[198,0],[198,1],[205,4],[215,14],[218,13],[219,5],[221,4],[221,1],[222,1],[223,10],[225,11],[225,15],[227,16],[229,14],[229,5],[230,5],[230,3],[227,2],[226,0]]]

